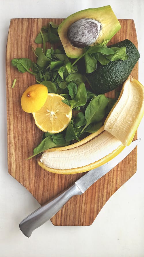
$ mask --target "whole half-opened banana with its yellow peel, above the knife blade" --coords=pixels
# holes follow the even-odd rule
[[[75,144],[46,150],[37,158],[37,162],[43,169],[60,174],[81,173],[99,167],[117,156],[132,142],[143,114],[144,87],[129,76],[104,126]],[[96,147],[92,148],[92,144]],[[87,151],[83,153],[84,149]],[[84,155],[80,156],[80,152]],[[98,160],[92,159],[97,156]]]

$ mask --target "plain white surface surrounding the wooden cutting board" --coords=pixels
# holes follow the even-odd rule
[[[56,227],[50,221],[30,238],[19,223],[39,207],[35,198],[7,170],[7,127],[5,88],[5,48],[12,18],[66,18],[86,8],[110,4],[117,18],[134,19],[139,52],[139,81],[143,71],[143,0],[5,0],[0,3],[0,257],[143,257],[144,256],[144,119],[138,129],[136,174],[105,204],[88,227]]]

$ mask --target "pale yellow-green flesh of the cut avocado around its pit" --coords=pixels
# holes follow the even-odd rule
[[[68,38],[69,27],[80,19],[88,18],[94,19],[102,25],[101,31],[92,45],[96,43],[101,44],[104,40],[110,40],[121,28],[121,25],[110,5],[99,8],[90,8],[71,14],[67,19],[62,21],[58,27],[58,35],[65,49],[66,55],[69,58],[78,58],[84,53],[84,48],[75,47],[71,44]],[[90,32],[91,29],[88,30],[88,33]],[[90,36],[90,34],[88,36]]]

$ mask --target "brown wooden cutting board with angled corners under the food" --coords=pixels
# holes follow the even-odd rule
[[[22,111],[21,96],[35,77],[29,73],[20,73],[11,66],[13,58],[30,58],[35,61],[32,51],[38,46],[35,37],[43,25],[49,21],[60,24],[63,19],[12,19],[6,49],[6,87],[7,87],[7,154],[8,172],[19,181],[42,205],[65,188],[70,186],[84,173],[60,175],[43,170],[36,157],[26,160],[33,154],[33,148],[41,142],[43,132],[35,125],[31,113]],[[133,20],[120,19],[122,28],[111,39],[110,44],[124,39],[131,40],[137,47],[137,35]],[[50,48],[50,45],[48,45]],[[132,76],[138,79],[138,63]],[[16,85],[12,88],[14,79]],[[115,92],[107,93],[114,97]],[[135,135],[135,138],[137,135]],[[114,169],[93,184],[83,195],[72,197],[51,219],[54,225],[76,226],[91,225],[107,200],[118,190],[137,169],[137,148]],[[29,214],[29,213],[28,213]]]

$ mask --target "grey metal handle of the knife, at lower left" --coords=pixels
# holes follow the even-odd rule
[[[19,226],[22,233],[30,237],[33,230],[51,219],[74,195],[82,195],[82,192],[75,184],[32,212],[20,222]]]

